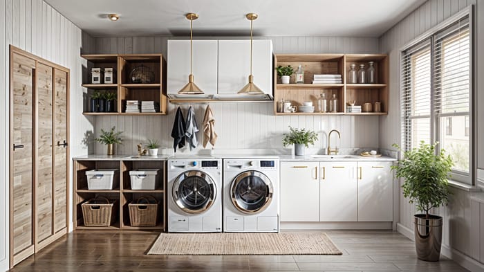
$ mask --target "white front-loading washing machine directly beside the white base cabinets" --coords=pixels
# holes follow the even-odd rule
[[[223,231],[279,232],[279,158],[223,159]]]

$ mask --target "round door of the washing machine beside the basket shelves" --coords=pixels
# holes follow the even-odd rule
[[[187,171],[174,181],[172,194],[181,210],[196,215],[209,210],[214,204],[216,184],[212,177],[204,172]]]

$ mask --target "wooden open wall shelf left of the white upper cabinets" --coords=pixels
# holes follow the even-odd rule
[[[166,96],[166,60],[161,54],[129,54],[129,55],[82,55],[87,60],[84,71],[82,87],[88,89],[86,100],[89,101],[94,91],[113,92],[118,100],[113,112],[93,112],[92,109],[84,108],[85,116],[100,115],[126,115],[126,116],[153,116],[167,114]],[[154,74],[154,81],[142,84],[133,83],[129,75],[134,68],[145,66]],[[93,67],[115,68],[117,81],[115,84],[92,84],[90,71]],[[155,101],[160,105],[158,112],[125,112],[126,100]],[[87,103],[89,104],[89,103]]]

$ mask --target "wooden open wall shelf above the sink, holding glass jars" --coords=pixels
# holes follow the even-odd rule
[[[378,84],[347,84],[346,73],[350,64],[368,64],[375,62]],[[307,116],[307,115],[353,115],[353,116],[380,116],[388,114],[388,56],[384,54],[277,54],[274,56],[274,68],[281,65],[290,65],[293,69],[301,64],[304,69],[304,84],[281,84],[274,69],[274,114],[277,116]],[[342,75],[342,84],[312,84],[314,74]],[[290,82],[295,82],[295,74],[291,75]],[[326,93],[330,100],[333,94],[338,99],[337,112],[317,112],[317,99],[321,93]],[[303,102],[311,101],[315,106],[313,113],[283,113],[277,112],[277,101],[285,100],[292,105],[300,106]],[[380,112],[346,112],[346,102],[355,100],[355,105],[381,102]]]

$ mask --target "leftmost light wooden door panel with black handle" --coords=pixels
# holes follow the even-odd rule
[[[10,53],[10,263],[34,253],[35,60]]]

